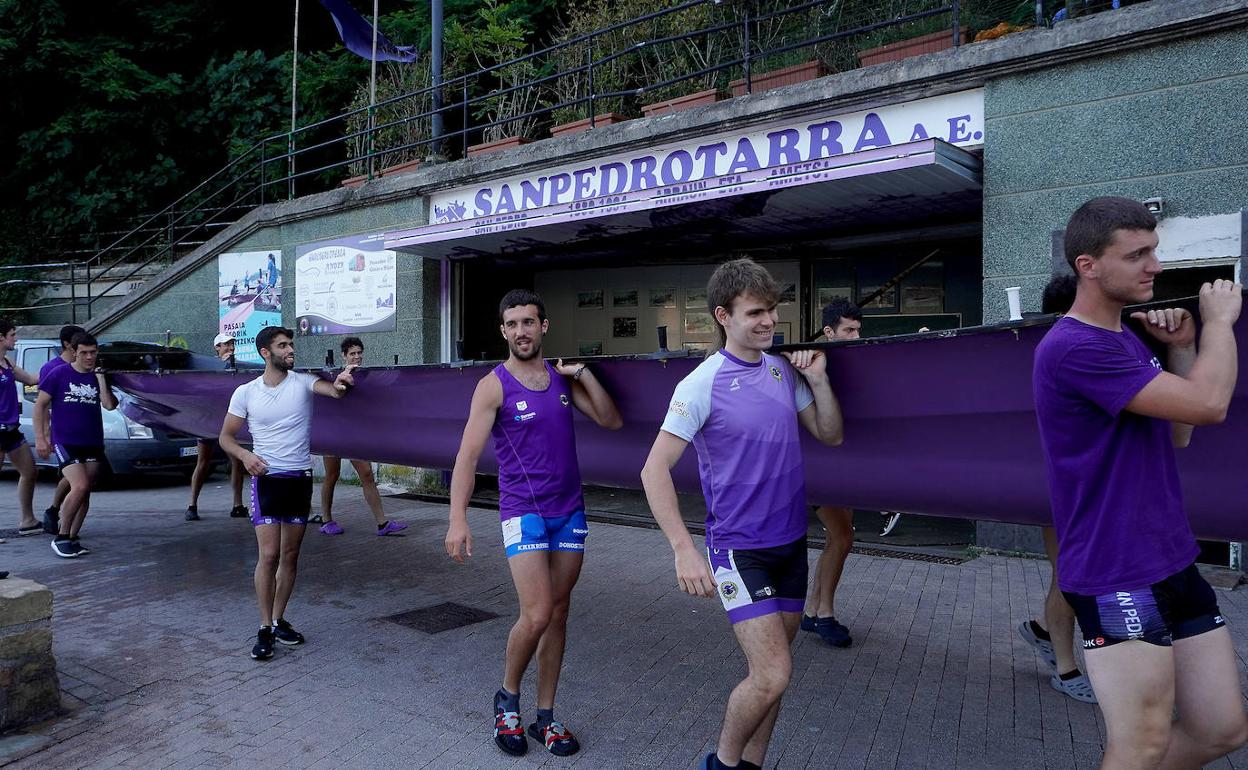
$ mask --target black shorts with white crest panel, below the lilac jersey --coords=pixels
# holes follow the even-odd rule
[[[774,548],[708,548],[719,600],[733,623],[800,613],[806,603],[806,538]]]

